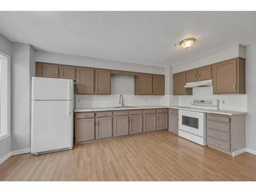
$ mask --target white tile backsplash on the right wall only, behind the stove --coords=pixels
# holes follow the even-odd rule
[[[220,110],[247,112],[247,94],[212,94],[212,86],[193,88],[193,95],[180,95],[178,103],[180,106],[191,106],[193,99],[219,99]]]

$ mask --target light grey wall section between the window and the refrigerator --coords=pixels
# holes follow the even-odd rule
[[[12,42],[12,151],[30,148],[34,55],[29,44]]]

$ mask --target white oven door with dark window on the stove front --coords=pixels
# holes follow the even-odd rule
[[[179,130],[204,137],[204,113],[179,110]]]

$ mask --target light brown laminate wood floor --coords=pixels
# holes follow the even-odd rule
[[[10,157],[1,181],[256,181],[256,156],[232,158],[168,131]]]

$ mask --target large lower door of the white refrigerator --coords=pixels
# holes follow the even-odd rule
[[[32,101],[31,153],[73,147],[73,101]]]

